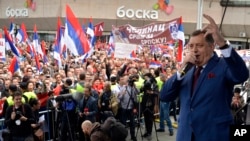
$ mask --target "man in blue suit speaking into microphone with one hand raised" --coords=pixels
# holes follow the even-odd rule
[[[203,16],[209,24],[193,32],[183,66],[169,78],[160,93],[163,101],[180,98],[177,141],[229,141],[233,88],[249,76],[245,62],[226,44],[215,21]],[[216,45],[223,57],[214,52]],[[194,83],[198,68],[200,75],[196,75],[198,79]]]

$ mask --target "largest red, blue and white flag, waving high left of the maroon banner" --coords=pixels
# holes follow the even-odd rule
[[[65,44],[73,55],[84,55],[90,50],[90,45],[85,33],[77,21],[74,13],[66,5],[66,22],[65,22]]]

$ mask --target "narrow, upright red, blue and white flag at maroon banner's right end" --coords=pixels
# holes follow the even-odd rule
[[[177,39],[178,39],[178,51],[177,51],[176,60],[178,62],[182,62],[182,56],[183,56],[182,52],[183,52],[183,47],[185,44],[185,35],[184,35],[184,29],[183,29],[183,24],[182,24],[182,17],[180,17]]]

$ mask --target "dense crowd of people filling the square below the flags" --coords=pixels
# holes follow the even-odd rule
[[[42,100],[40,98],[47,95],[46,101],[43,99],[40,104],[37,103],[40,106],[36,110],[59,111],[51,120],[56,120],[55,129],[58,131],[55,133],[59,140],[84,140],[84,133],[81,132],[83,121],[103,123],[109,116],[115,116],[129,126],[131,139],[136,140],[135,119],[139,114],[145,117],[146,131],[143,136],[151,136],[154,113],[159,111],[162,81],[176,71],[178,63],[174,58],[150,52],[150,48],[145,47],[141,53],[137,53],[139,59],[119,59],[108,56],[105,47],[97,48],[84,61],[70,56],[63,60],[63,67],[60,68],[48,50],[49,61],[44,63],[40,60],[41,71],[27,53],[25,59],[19,62],[20,70],[13,74],[8,70],[11,59],[7,58],[6,62],[0,62],[2,117],[5,117],[6,126],[9,127],[7,121],[11,117],[8,107],[15,105],[13,97],[20,92],[23,94],[22,103],[30,105],[31,108],[34,103],[30,102],[34,99]],[[149,67],[151,61],[159,62],[161,66]],[[164,78],[160,79],[161,76]],[[60,97],[72,93],[81,93],[81,99]],[[139,93],[144,95],[138,97]],[[32,125],[37,124],[31,130],[35,131],[40,126],[38,119],[39,116],[36,115],[30,121]],[[130,122],[127,123],[127,120]],[[17,126],[15,123],[14,125]],[[30,134],[12,134],[22,137],[27,135]],[[173,135],[172,131],[170,135]]]

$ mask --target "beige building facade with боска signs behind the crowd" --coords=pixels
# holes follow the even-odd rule
[[[109,34],[112,25],[131,24],[144,26],[182,17],[184,32],[189,34],[197,27],[199,0],[0,0],[0,28],[8,27],[10,22],[25,23],[28,31],[37,25],[39,33],[55,33],[57,18],[65,20],[65,7],[68,4],[81,24],[87,26],[104,22],[104,32]],[[203,13],[211,15],[221,31],[231,41],[248,43],[250,37],[250,8],[227,7],[221,5],[225,0],[203,0]],[[233,0],[229,0],[233,1]],[[225,3],[224,3],[225,5]],[[224,10],[226,12],[224,14]],[[207,21],[203,19],[203,24]],[[1,32],[1,30],[0,30]],[[52,38],[52,37],[51,37]],[[237,43],[238,44],[238,43]]]

